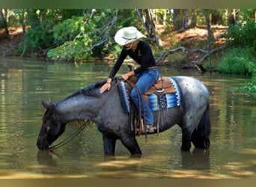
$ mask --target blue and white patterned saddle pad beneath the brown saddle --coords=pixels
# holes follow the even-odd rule
[[[162,94],[160,97],[158,97],[156,93],[151,93],[150,95],[148,95],[148,101],[151,111],[158,111],[160,109],[180,106],[182,104],[181,92],[180,88],[177,85],[177,82],[171,78],[167,79],[174,86],[174,93]],[[120,81],[119,85],[121,102],[123,104],[124,111],[129,113],[129,103],[131,102],[129,98],[129,93],[123,80]]]

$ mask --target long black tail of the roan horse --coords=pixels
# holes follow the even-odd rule
[[[210,104],[207,102],[207,108],[198,123],[197,128],[192,132],[192,143],[200,149],[208,149],[210,147]]]

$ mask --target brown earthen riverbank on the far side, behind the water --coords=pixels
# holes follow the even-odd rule
[[[172,31],[170,33],[169,29],[166,25],[156,25],[157,31],[159,33],[159,38],[162,40],[162,50],[156,50],[156,53],[160,56],[162,52],[168,51],[170,49],[175,49],[178,46],[183,46],[186,49],[207,49],[207,28],[206,26],[198,26],[195,28],[190,28],[183,31]],[[224,26],[213,26],[213,34],[214,37],[219,37],[220,34],[225,33],[227,27]],[[22,33],[22,28],[9,28],[9,36],[4,35],[4,30],[0,31],[0,55],[1,56],[20,56],[22,54],[22,45],[24,43],[24,35]],[[225,41],[218,40],[214,43],[216,45],[222,45]],[[213,46],[211,46],[213,47]],[[212,61],[214,63],[219,63],[220,55],[213,55]],[[46,50],[42,50],[42,53],[32,53],[25,56],[28,58],[40,58],[46,59]],[[156,58],[159,58],[156,56]],[[189,67],[190,61],[196,61],[198,58],[201,58],[201,54],[198,52],[193,53],[184,53],[184,52],[174,52],[171,55],[168,55],[167,58],[163,61],[162,64],[167,64],[171,67]],[[111,55],[104,59],[97,59],[105,60],[105,61],[113,61]],[[206,59],[207,60],[207,59]]]

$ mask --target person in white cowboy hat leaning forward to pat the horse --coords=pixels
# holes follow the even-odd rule
[[[159,76],[158,70],[156,69],[156,62],[153,58],[150,45],[144,40],[140,40],[142,37],[145,37],[144,34],[141,34],[137,28],[132,26],[121,28],[115,34],[115,42],[124,47],[121,50],[121,54],[119,55],[114,67],[112,67],[105,85],[100,88],[100,93],[103,93],[106,90],[109,91],[112,79],[115,77],[115,74],[118,73],[124,59],[127,58],[128,55],[135,62],[140,64],[140,67],[125,73],[121,76],[122,79],[127,80],[130,76],[136,76],[138,78],[138,82],[136,82],[135,87],[141,94],[145,93],[153,83],[156,82]],[[135,88],[131,91],[131,98],[137,111],[141,111],[141,117],[144,117],[144,122],[147,128],[150,128],[151,132],[153,127],[153,113],[150,110],[149,105],[142,96],[138,95]],[[143,102],[143,104],[141,104],[141,108],[139,108],[139,102]]]

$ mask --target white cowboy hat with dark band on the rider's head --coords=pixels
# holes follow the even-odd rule
[[[124,27],[117,31],[117,33],[115,34],[115,42],[121,46],[124,46],[127,43],[132,43],[142,37],[146,36],[138,31],[137,28]]]

